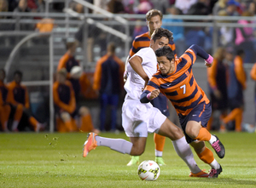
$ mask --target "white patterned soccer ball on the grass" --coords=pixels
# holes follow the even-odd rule
[[[154,161],[143,161],[137,168],[137,174],[143,180],[152,181],[158,179],[160,167]]]

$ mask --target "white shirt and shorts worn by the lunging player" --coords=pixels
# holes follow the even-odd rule
[[[140,56],[143,59],[143,70],[148,77],[157,71],[157,60],[152,48],[142,48],[133,56]],[[150,103],[143,104],[140,101],[141,94],[145,81],[140,77],[136,71],[127,65],[128,78],[125,83],[125,102],[122,107],[122,125],[125,129],[125,134],[128,137],[147,137],[148,133],[157,133],[163,122],[166,121],[160,110],[154,108]],[[144,122],[147,124],[146,132],[143,131],[143,126],[140,124]],[[137,128],[137,131],[135,129]]]

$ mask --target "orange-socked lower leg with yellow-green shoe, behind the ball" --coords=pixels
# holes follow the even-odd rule
[[[166,165],[162,157],[165,143],[166,143],[165,136],[161,136],[160,134],[154,134],[155,162],[157,162],[160,166]]]

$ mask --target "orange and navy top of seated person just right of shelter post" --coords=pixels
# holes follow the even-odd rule
[[[53,85],[54,103],[63,111],[73,113],[76,108],[76,99],[72,84],[66,81],[65,84],[55,82]]]

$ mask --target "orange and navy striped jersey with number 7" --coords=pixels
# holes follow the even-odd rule
[[[205,92],[195,81],[192,66],[196,60],[195,52],[189,48],[179,59],[175,60],[175,71],[166,76],[161,75],[160,70],[150,78],[145,90],[152,92],[159,88],[171,100],[177,111],[177,115],[186,116],[192,109],[200,104],[210,101]]]

